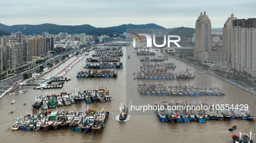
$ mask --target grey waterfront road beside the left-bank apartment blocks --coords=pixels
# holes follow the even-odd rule
[[[71,53],[73,53],[73,52],[74,52],[74,51],[71,51]],[[65,55],[67,55],[67,54],[69,54],[69,53],[65,53]],[[29,72],[29,73],[33,74],[33,73],[36,72],[36,70],[39,69],[40,66],[47,67],[47,64],[48,64],[48,63],[52,63],[52,64],[53,64],[53,63],[55,63],[56,60],[61,59],[61,58],[62,58],[62,56],[59,56],[59,57],[57,57],[57,58],[55,58],[55,59],[53,59],[53,60],[51,60],[51,61],[49,61],[49,62],[45,62],[44,64],[39,65],[39,66],[37,66],[37,67],[35,67],[35,68],[32,68],[32,69],[30,69],[30,70],[28,70],[28,71],[19,73],[19,74],[17,74],[17,76],[15,76],[15,77],[13,77],[13,78],[10,78],[10,79],[8,79],[8,80],[6,80],[6,81],[0,81],[0,90],[7,90],[8,88],[10,88],[10,86],[11,86],[11,84],[12,84],[13,82],[18,82],[18,81],[22,80],[22,79],[23,79],[23,75],[24,75],[25,73]],[[13,80],[13,79],[14,79],[14,80]]]

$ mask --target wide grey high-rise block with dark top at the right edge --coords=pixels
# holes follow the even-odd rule
[[[256,77],[256,19],[233,20],[232,68]]]

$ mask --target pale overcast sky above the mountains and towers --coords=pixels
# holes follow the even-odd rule
[[[1,0],[0,23],[95,27],[155,23],[194,28],[205,10],[212,27],[223,27],[232,12],[238,19],[256,18],[255,6],[255,0]]]

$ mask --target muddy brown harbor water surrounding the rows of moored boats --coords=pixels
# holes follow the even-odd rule
[[[132,45],[132,44],[131,44]],[[139,44],[137,45],[137,47]],[[143,46],[143,44],[141,44]],[[145,47],[145,46],[144,46]],[[139,58],[142,56],[137,56],[134,47],[123,47],[123,56],[120,61],[123,62],[123,68],[117,68],[118,76],[117,78],[76,78],[79,69],[83,68],[86,58],[91,57],[94,51],[91,51],[88,56],[85,56],[78,64],[76,64],[66,75],[70,81],[65,81],[64,87],[59,89],[44,89],[44,90],[34,90],[32,88],[26,88],[26,93],[19,93],[19,95],[8,95],[6,94],[0,99],[0,139],[1,143],[8,142],[76,142],[76,143],[117,143],[117,142],[145,142],[145,143],[155,143],[155,142],[181,142],[190,143],[193,141],[199,142],[210,142],[210,143],[232,143],[231,135],[235,132],[242,133],[245,131],[249,133],[252,129],[253,133],[256,133],[256,123],[255,121],[249,120],[235,120],[230,119],[229,121],[206,121],[206,123],[198,123],[197,121],[190,123],[170,123],[170,122],[160,122],[159,118],[156,116],[155,111],[130,111],[130,106],[132,105],[152,105],[161,101],[194,101],[212,104],[247,104],[249,109],[252,111],[252,115],[256,115],[256,98],[253,97],[251,93],[246,92],[229,82],[223,81],[207,73],[195,74],[194,79],[175,79],[175,80],[164,80],[162,81],[165,86],[175,86],[176,84],[181,85],[194,85],[201,87],[219,87],[221,88],[225,95],[224,96],[146,96],[140,95],[138,90],[138,84],[143,83],[144,80],[134,80],[136,75],[134,72],[139,71],[141,62]],[[127,58],[130,54],[130,59]],[[156,56],[162,56],[162,53],[156,53]],[[153,58],[153,56],[148,56]],[[73,56],[71,59],[60,65],[58,68],[52,70],[48,74],[43,75],[40,78],[48,78],[56,75],[61,71],[66,65],[76,59]],[[186,68],[191,68],[189,72],[200,72],[201,70],[194,68],[184,62],[180,62],[174,58],[165,60],[164,62],[174,62],[176,65],[172,72],[185,71]],[[37,80],[39,81],[39,80]],[[36,81],[34,81],[36,82]],[[159,83],[160,80],[146,80],[147,84]],[[55,82],[58,83],[58,82]],[[71,131],[70,128],[65,129],[50,129],[48,131],[12,131],[10,127],[13,126],[17,118],[21,115],[24,116],[27,112],[37,114],[38,110],[32,109],[33,99],[37,94],[48,95],[55,93],[60,94],[63,90],[70,93],[72,88],[78,88],[81,90],[94,89],[96,87],[106,88],[109,90],[112,96],[112,101],[104,103],[91,103],[88,104],[89,108],[94,107],[94,109],[106,108],[109,111],[109,116],[107,118],[104,130],[100,134],[94,135],[92,131],[87,134],[84,132]],[[14,92],[18,92],[21,89],[17,89]],[[11,104],[13,99],[16,99],[16,103]],[[26,103],[24,106],[23,104]],[[120,122],[117,121],[116,116],[120,115],[120,106],[126,104],[129,108],[129,121]],[[75,103],[71,106],[60,106],[57,109],[52,110],[66,110],[66,111],[85,111],[87,109],[86,102]],[[13,111],[10,114],[10,111]],[[237,126],[237,130],[230,132],[228,129],[233,125]]]

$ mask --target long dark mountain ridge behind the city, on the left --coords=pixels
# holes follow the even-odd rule
[[[91,25],[56,25],[56,24],[50,24],[50,23],[45,23],[41,25],[26,25],[26,29],[24,29],[25,25],[3,25],[0,23],[0,29],[5,31],[9,31],[10,33],[13,32],[22,32],[22,34],[42,34],[42,32],[49,32],[49,34],[58,34],[59,32],[67,32],[68,34],[80,34],[80,33],[85,33],[89,35],[110,35],[114,34],[115,32],[125,32],[126,28],[164,28],[162,26],[150,23],[150,24],[145,24],[145,25],[133,25],[133,24],[128,24],[128,25],[119,25],[119,26],[114,26],[114,27],[109,27],[109,28],[95,28],[94,26]],[[6,34],[6,33],[5,33]],[[4,35],[4,34],[3,34]],[[9,34],[10,35],[10,34]]]

